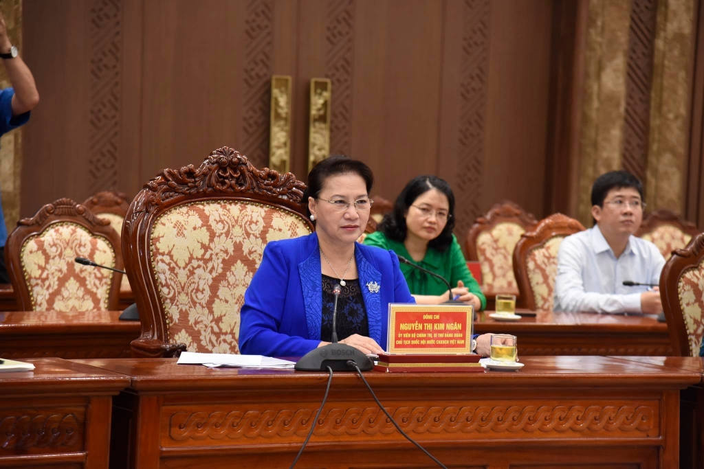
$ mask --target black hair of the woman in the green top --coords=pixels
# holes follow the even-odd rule
[[[445,194],[450,203],[450,210],[445,228],[435,239],[428,243],[428,247],[438,251],[444,251],[449,248],[452,244],[452,231],[455,228],[455,195],[452,193],[450,184],[438,176],[424,175],[411,179],[406,184],[406,187],[403,188],[403,191],[398,194],[396,203],[394,203],[394,210],[384,215],[384,219],[379,224],[379,231],[382,231],[387,238],[403,243],[408,234],[408,226],[406,226],[408,207],[420,195],[431,189],[437,189]]]

